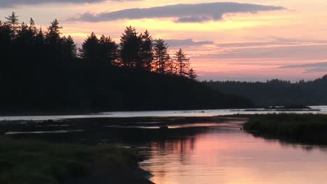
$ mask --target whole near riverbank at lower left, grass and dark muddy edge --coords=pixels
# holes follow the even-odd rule
[[[0,155],[2,184],[152,183],[127,148],[0,137]]]

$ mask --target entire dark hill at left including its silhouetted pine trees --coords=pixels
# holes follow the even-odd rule
[[[46,30],[13,13],[0,21],[0,113],[251,107],[196,81],[182,49],[129,26],[115,43],[91,33],[78,49],[54,20]]]

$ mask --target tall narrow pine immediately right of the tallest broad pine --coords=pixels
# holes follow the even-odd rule
[[[140,67],[151,71],[152,62],[154,60],[152,36],[150,36],[150,33],[146,30],[140,37],[142,40],[140,44]]]

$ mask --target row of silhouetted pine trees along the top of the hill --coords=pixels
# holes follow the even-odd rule
[[[71,36],[61,36],[63,27],[59,26],[57,19],[43,31],[36,28],[32,18],[29,24],[20,24],[14,12],[5,18],[5,22],[0,21],[1,49],[6,56],[20,62],[19,66],[24,69],[28,67],[25,65],[31,64],[24,62],[26,56],[31,56],[34,61],[38,60],[38,56],[45,56],[43,63],[32,64],[41,66],[45,64],[46,59],[47,65],[60,68],[67,67],[79,59],[93,66],[120,66],[191,79],[197,77],[182,49],[170,56],[165,41],[154,40],[148,31],[138,34],[135,28],[126,27],[118,44],[110,36],[98,37],[92,32],[78,49]],[[10,56],[11,54],[13,56]],[[13,63],[3,65],[3,69],[8,70]]]

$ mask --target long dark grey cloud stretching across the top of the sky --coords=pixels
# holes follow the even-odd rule
[[[195,3],[157,6],[152,8],[131,8],[113,12],[83,13],[69,20],[80,22],[106,22],[124,19],[169,18],[175,22],[208,22],[221,20],[227,13],[257,13],[259,11],[284,10],[282,6],[263,6],[252,3]]]

